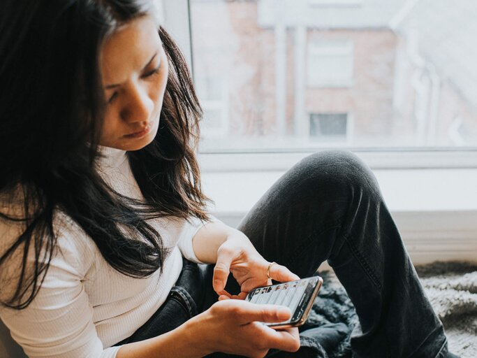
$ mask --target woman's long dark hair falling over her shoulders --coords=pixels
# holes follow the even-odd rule
[[[201,108],[184,57],[162,27],[170,71],[161,125],[152,143],[127,153],[145,203],[108,187],[94,166],[105,103],[101,45],[120,24],[150,14],[152,0],[3,0],[1,7],[0,194],[22,198],[21,217],[0,213],[22,225],[0,252],[0,273],[22,258],[13,292],[0,286],[1,304],[22,309],[38,293],[56,252],[59,210],[117,271],[145,278],[161,269],[168,250],[147,220],[207,220],[209,201],[194,152]],[[4,208],[14,205],[3,200]]]

